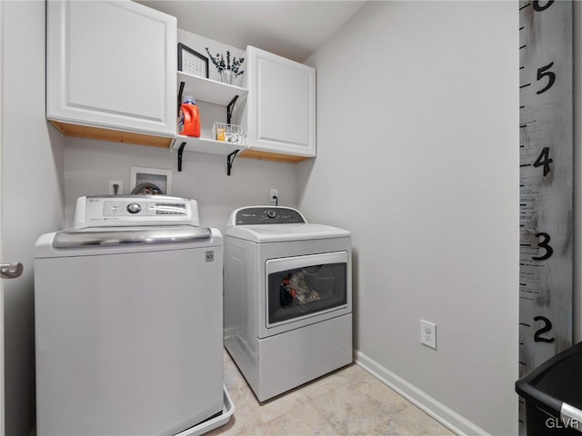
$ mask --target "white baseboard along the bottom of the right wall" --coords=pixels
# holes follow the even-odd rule
[[[354,350],[354,359],[358,366],[402,395],[406,400],[412,402],[420,410],[428,413],[450,431],[454,431],[458,435],[491,436],[487,431],[463,418],[456,411],[452,411],[445,404],[435,400],[408,381],[398,377],[394,372],[387,370],[378,362],[370,359],[363,352]]]

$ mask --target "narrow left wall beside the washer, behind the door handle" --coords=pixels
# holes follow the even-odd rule
[[[5,281],[5,434],[26,435],[35,401],[33,247],[63,222],[63,141],[45,121],[45,2],[3,2],[2,261]],[[51,128],[52,130],[52,128]]]

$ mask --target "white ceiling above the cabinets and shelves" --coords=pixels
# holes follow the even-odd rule
[[[178,27],[227,45],[255,45],[303,62],[366,1],[138,0],[176,16]]]

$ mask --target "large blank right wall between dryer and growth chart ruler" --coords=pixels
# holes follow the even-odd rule
[[[359,356],[491,434],[517,432],[517,27],[514,2],[370,2],[306,62],[299,208],[353,232]]]

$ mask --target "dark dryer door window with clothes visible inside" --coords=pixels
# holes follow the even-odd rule
[[[268,276],[270,324],[346,304],[346,263],[326,263]]]

